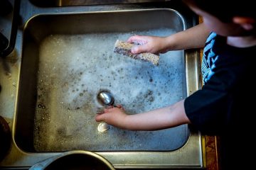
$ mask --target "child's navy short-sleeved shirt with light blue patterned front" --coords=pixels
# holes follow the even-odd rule
[[[255,149],[249,144],[256,130],[255,58],[256,47],[232,47],[226,38],[210,33],[201,68],[204,85],[184,102],[193,126],[206,135],[220,136],[225,169],[249,166],[245,162],[250,157],[245,155]]]

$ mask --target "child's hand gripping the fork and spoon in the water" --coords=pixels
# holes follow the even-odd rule
[[[126,117],[127,114],[124,112],[124,108],[121,105],[117,105],[117,107],[110,106],[110,108],[105,108],[103,113],[96,115],[95,120],[97,122],[104,121],[109,125],[123,128]]]

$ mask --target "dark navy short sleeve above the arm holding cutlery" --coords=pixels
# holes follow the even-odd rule
[[[230,68],[216,69],[201,90],[185,99],[186,115],[191,124],[201,132],[217,135],[228,125],[237,81],[234,74]]]

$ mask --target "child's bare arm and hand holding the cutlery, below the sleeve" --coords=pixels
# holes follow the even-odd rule
[[[107,108],[105,113],[97,115],[95,119],[127,130],[161,130],[190,123],[184,110],[184,100],[172,106],[134,115],[127,115],[120,106]]]

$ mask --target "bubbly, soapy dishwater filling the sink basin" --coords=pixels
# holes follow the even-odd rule
[[[70,149],[173,150],[187,140],[188,127],[134,132],[110,126],[98,132],[97,94],[110,91],[129,114],[169,106],[186,96],[183,51],[160,55],[159,66],[113,52],[131,35],[166,36],[169,28],[133,33],[49,35],[41,42],[34,147],[38,152]]]

